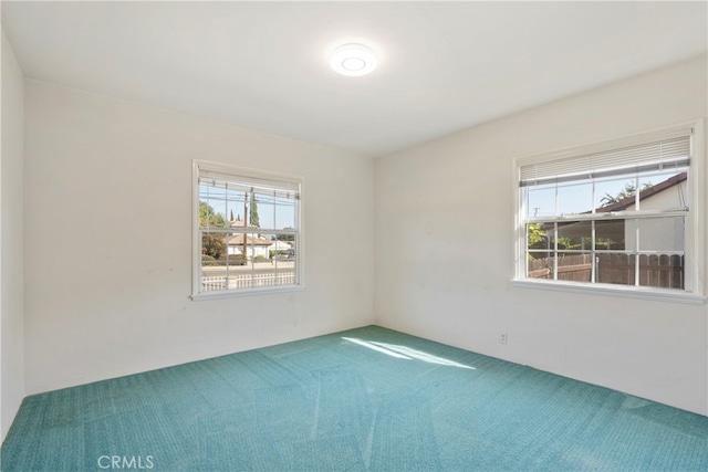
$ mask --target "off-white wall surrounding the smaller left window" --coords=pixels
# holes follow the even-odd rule
[[[25,133],[28,394],[374,321],[371,159],[35,81]],[[304,291],[189,298],[191,159],[304,177]]]

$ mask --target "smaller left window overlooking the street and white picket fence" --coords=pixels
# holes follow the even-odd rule
[[[301,285],[301,180],[194,162],[192,297]]]

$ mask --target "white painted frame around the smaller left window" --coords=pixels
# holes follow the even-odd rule
[[[296,185],[299,187],[298,208],[295,212],[295,233],[296,233],[296,250],[294,251],[295,258],[295,282],[288,285],[263,286],[263,287],[249,287],[249,289],[227,289],[219,291],[202,291],[202,266],[201,266],[201,232],[199,228],[199,176],[201,171],[218,172],[233,177],[235,181],[239,179],[252,180],[261,179],[268,181],[281,181],[288,185]],[[304,229],[303,229],[303,189],[304,179],[301,176],[283,172],[266,171],[260,169],[253,169],[248,167],[238,167],[226,164],[212,162],[208,160],[192,160],[192,185],[191,185],[191,201],[192,201],[192,274],[191,274],[191,300],[214,300],[233,296],[244,295],[258,295],[258,294],[274,294],[282,292],[301,291],[304,289]],[[278,230],[264,229],[263,232],[271,233]]]

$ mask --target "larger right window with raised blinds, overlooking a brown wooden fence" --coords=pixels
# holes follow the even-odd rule
[[[679,127],[519,160],[517,280],[701,294],[691,137]]]

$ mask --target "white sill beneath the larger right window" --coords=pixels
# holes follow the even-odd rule
[[[657,302],[685,303],[690,305],[702,305],[706,303],[706,296],[696,295],[678,290],[654,289],[654,287],[636,287],[610,284],[585,284],[561,281],[541,281],[529,279],[514,279],[511,281],[513,286],[523,289],[551,290],[560,292],[572,292],[593,295],[610,295],[628,298],[653,300]]]

